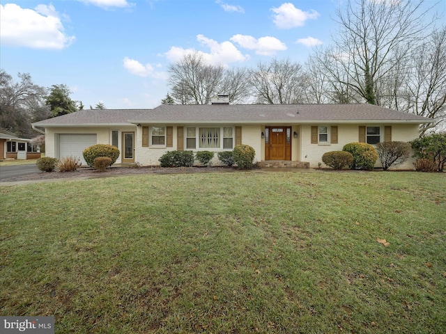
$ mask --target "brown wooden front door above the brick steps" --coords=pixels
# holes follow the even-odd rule
[[[267,127],[266,160],[291,160],[291,127]]]

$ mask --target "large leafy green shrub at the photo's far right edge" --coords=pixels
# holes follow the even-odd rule
[[[443,172],[446,164],[446,134],[431,134],[411,141],[414,157],[429,159],[438,166],[438,171]]]

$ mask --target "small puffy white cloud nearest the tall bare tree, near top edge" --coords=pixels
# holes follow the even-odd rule
[[[271,10],[275,13],[273,21],[279,29],[303,26],[307,19],[316,19],[320,15],[316,10],[304,12],[295,8],[293,3],[283,3],[279,8],[271,8]]]

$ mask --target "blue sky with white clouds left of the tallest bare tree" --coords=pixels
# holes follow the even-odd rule
[[[22,72],[40,86],[66,84],[87,109],[153,108],[169,91],[169,63],[191,50],[228,67],[305,63],[312,47],[330,44],[340,3],[1,0],[0,67],[15,80]]]

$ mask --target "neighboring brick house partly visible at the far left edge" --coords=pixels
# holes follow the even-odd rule
[[[40,158],[40,153],[37,148],[33,148],[30,141],[31,139],[0,133],[0,160]]]

